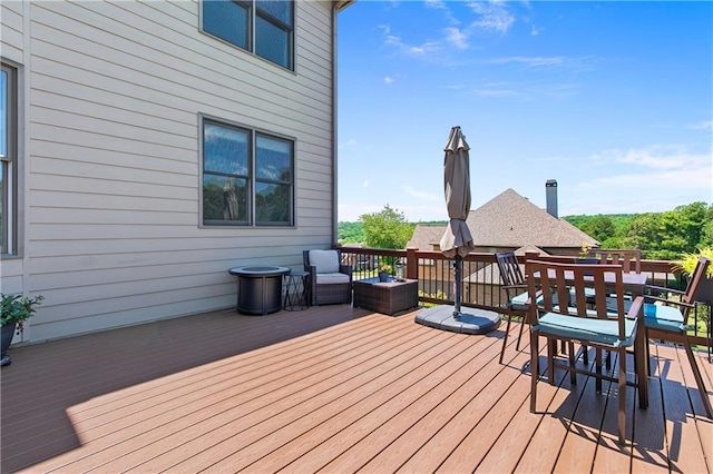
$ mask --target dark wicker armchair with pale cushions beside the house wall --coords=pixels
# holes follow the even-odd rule
[[[304,270],[310,273],[312,306],[352,302],[352,266],[342,265],[339,250],[304,250]]]

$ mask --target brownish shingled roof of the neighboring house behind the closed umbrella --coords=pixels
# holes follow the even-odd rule
[[[468,215],[468,227],[476,247],[566,247],[579,248],[583,243],[599,243],[577,227],[557,219],[524,198],[506,189]],[[409,247],[436,249],[446,226],[417,225]],[[522,251],[524,253],[524,251]]]

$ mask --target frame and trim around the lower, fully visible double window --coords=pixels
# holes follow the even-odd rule
[[[248,136],[248,157],[247,157],[247,196],[246,196],[246,200],[247,200],[247,219],[246,219],[246,224],[227,224],[227,221],[223,220],[219,221],[221,224],[211,224],[211,223],[206,223],[206,219],[204,217],[204,176],[205,176],[205,157],[204,157],[204,152],[205,152],[205,125],[206,124],[213,124],[216,125],[218,127],[227,127],[227,128],[233,128],[233,129],[237,129],[240,131],[244,131],[247,134]],[[292,175],[292,181],[286,184],[289,186],[289,221],[287,224],[285,223],[258,223],[256,219],[256,184],[257,182],[270,182],[270,184],[274,184],[275,181],[271,181],[271,180],[265,180],[265,179],[257,179],[256,177],[256,144],[257,144],[257,136],[262,136],[262,137],[267,137],[267,138],[274,138],[277,140],[285,140],[289,141],[291,145],[291,175]],[[297,182],[297,177],[296,177],[296,162],[297,162],[297,158],[296,158],[296,150],[297,150],[297,140],[295,137],[291,137],[291,136],[286,136],[286,135],[282,135],[282,134],[277,134],[274,131],[270,131],[270,130],[265,130],[262,128],[257,128],[257,127],[251,127],[251,126],[246,126],[243,124],[237,124],[235,121],[231,121],[231,120],[225,120],[222,118],[216,118],[213,116],[207,116],[207,115],[199,115],[198,116],[198,162],[199,162],[199,176],[198,176],[198,227],[201,228],[211,228],[211,229],[215,229],[215,228],[229,228],[229,229],[265,229],[265,228],[296,228],[296,182]]]

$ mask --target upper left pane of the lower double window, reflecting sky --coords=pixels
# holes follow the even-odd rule
[[[247,176],[250,135],[244,130],[205,122],[203,128],[203,169]]]

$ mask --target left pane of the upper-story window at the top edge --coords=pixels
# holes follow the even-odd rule
[[[235,46],[248,49],[248,10],[231,0],[204,0],[203,29]]]

